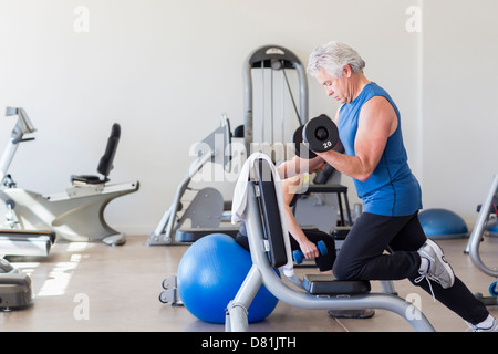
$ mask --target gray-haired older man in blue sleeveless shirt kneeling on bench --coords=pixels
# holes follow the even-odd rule
[[[443,250],[427,240],[418,220],[422,192],[412,174],[403,143],[401,115],[391,96],[363,73],[365,62],[349,45],[330,42],[310,55],[308,73],[342,105],[334,122],[345,154],[317,153],[314,166],[325,160],[353,178],[363,201],[334,263],[338,279],[409,279],[474,325],[498,331],[486,306],[454,274]],[[300,171],[295,157],[280,166],[286,176]],[[391,254],[384,254],[386,249]],[[426,281],[423,281],[426,280]]]

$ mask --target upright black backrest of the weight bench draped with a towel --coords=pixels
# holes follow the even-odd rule
[[[259,198],[261,225],[264,239],[269,243],[271,266],[279,268],[288,262],[284,243],[284,237],[288,237],[288,235],[283,235],[276,184],[268,164],[267,160],[259,159],[255,165],[257,181],[253,183],[253,186],[259,189],[256,196]]]

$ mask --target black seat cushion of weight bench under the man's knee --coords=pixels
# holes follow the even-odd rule
[[[313,295],[365,294],[371,290],[366,280],[336,280],[332,274],[304,275],[302,287]]]

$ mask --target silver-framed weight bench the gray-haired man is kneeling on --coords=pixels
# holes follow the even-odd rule
[[[283,214],[280,210],[283,199],[276,190],[273,166],[260,153],[250,156],[246,164],[253,164],[248,169],[255,178],[247,181],[248,175],[243,176],[246,166],[242,167],[239,181],[247,181],[247,205],[243,216],[239,215],[246,220],[252,267],[227,306],[227,332],[249,331],[247,309],[262,284],[276,298],[292,306],[308,310],[383,309],[404,317],[415,331],[434,331],[425,315],[412,303],[394,294],[370,293],[369,281],[338,281],[333,275],[310,274],[302,281],[305,291],[283,282],[274,269],[280,268],[288,278],[293,270],[289,269],[289,266],[292,267],[289,262],[289,236],[287,226],[282,223]],[[234,200],[238,199],[235,195]]]

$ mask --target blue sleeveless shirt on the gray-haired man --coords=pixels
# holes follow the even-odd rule
[[[345,154],[355,156],[354,140],[362,106],[374,96],[385,97],[397,116],[397,128],[387,139],[384,153],[372,176],[365,181],[353,178],[363,211],[383,216],[407,216],[422,209],[422,191],[408,166],[403,144],[400,111],[391,96],[377,84],[371,82],[352,102],[345,103],[339,112],[339,136]]]

